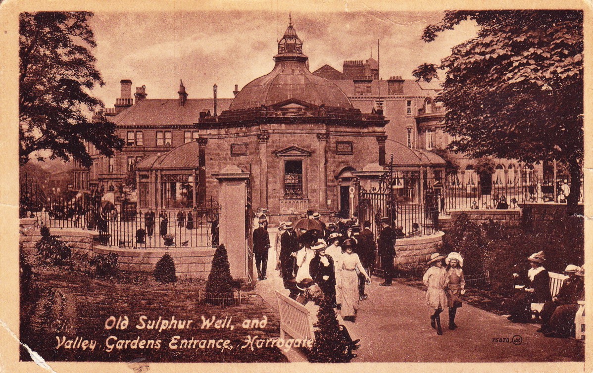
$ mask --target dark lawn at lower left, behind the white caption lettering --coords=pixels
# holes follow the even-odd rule
[[[161,284],[152,276],[138,273],[97,279],[68,267],[35,267],[33,273],[33,288],[21,297],[21,340],[46,361],[129,362],[138,358],[145,358],[146,362],[287,361],[277,347],[241,349],[247,336],[279,337],[278,313],[257,298],[222,308],[197,301],[199,290],[205,286],[202,280]],[[267,324],[243,328],[244,320],[261,321],[264,315]],[[125,323],[118,320],[120,317],[125,320],[125,316],[129,323],[124,329]],[[145,318],[141,321],[142,316]],[[160,330],[162,320],[172,321],[173,316],[185,321],[184,329]],[[215,322],[202,329],[202,317],[207,320],[215,317]],[[150,321],[159,318],[158,329],[149,330]],[[225,318],[227,321],[221,321],[217,329],[216,320]],[[181,323],[177,326],[181,327]],[[179,337],[174,339],[174,336]],[[73,340],[74,345],[68,340]],[[93,350],[93,342],[84,342],[87,340],[94,341]],[[120,340],[124,342],[118,345]],[[171,340],[174,340],[172,345]],[[183,340],[187,340],[184,343],[190,348],[185,345],[181,348]],[[226,345],[225,340],[229,341]],[[60,348],[58,343],[62,343]],[[83,349],[84,346],[87,348]],[[21,359],[30,360],[24,349]]]

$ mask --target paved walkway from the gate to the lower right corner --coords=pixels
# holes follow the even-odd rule
[[[270,238],[275,238],[270,231]],[[268,279],[257,283],[256,291],[273,308],[278,308],[275,291],[288,295],[270,250]],[[361,339],[356,362],[559,362],[583,361],[584,343],[575,339],[546,338],[535,330],[538,324],[515,324],[505,317],[464,304],[457,311],[459,328],[449,330],[447,311],[441,314],[444,334],[430,326],[431,310],[424,292],[394,282],[379,286],[373,278],[367,286],[368,299],[362,301],[356,323],[345,321],[353,339]],[[493,338],[521,336],[522,343],[492,342]],[[291,361],[305,361],[297,352]]]

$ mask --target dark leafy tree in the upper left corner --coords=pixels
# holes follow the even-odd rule
[[[90,12],[24,12],[20,15],[20,164],[31,154],[71,157],[90,166],[85,142],[113,155],[124,142],[91,90],[104,84],[91,49]]]

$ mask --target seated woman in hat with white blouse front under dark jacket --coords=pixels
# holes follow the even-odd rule
[[[515,285],[518,292],[506,304],[510,314],[508,320],[514,323],[527,323],[531,320],[531,303],[544,303],[551,298],[548,271],[542,265],[546,262],[544,252],[531,254],[527,259],[531,264],[527,285]],[[517,273],[513,276],[519,278]]]

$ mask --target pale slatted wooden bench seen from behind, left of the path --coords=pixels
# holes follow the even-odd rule
[[[278,312],[280,314],[280,338],[285,333],[294,339],[315,340],[313,322],[307,307],[276,291],[278,298]]]

